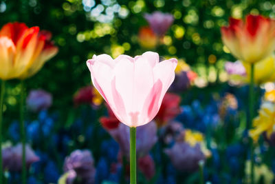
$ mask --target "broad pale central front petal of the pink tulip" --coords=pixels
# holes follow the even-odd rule
[[[115,66],[115,88],[122,96],[121,102],[124,102],[126,114],[130,116],[127,122],[140,125],[139,123],[144,123],[140,122],[140,116],[144,100],[153,86],[153,72],[151,63],[146,58],[135,59],[134,62],[131,57],[121,56],[116,59],[118,63]]]

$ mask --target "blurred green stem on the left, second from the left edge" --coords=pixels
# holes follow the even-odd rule
[[[21,81],[21,96],[20,96],[20,130],[22,143],[22,183],[25,184],[27,180],[27,168],[25,163],[25,125],[24,125],[24,105],[25,105],[25,85]]]

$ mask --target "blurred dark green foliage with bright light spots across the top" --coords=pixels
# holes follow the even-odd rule
[[[207,83],[226,81],[223,63],[234,61],[221,43],[220,27],[230,16],[263,14],[275,17],[274,1],[125,1],[125,0],[20,0],[0,1],[0,25],[21,21],[50,30],[59,52],[44,68],[28,79],[30,88],[43,88],[54,96],[54,108],[72,108],[72,96],[91,79],[86,60],[93,54],[134,56],[146,51],[138,43],[138,30],[148,25],[145,12],[170,12],[175,22],[164,37],[159,55],[177,57],[189,63]],[[16,110],[17,81],[8,85],[6,104]],[[14,86],[16,88],[14,88]],[[14,110],[14,111],[12,111]]]

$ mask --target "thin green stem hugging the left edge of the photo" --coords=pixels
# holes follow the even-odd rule
[[[3,183],[3,164],[2,164],[2,124],[3,124],[3,100],[5,94],[5,81],[1,82],[0,94],[0,183]]]

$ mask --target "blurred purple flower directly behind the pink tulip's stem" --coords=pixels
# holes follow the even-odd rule
[[[129,156],[130,150],[130,129],[128,126],[120,123],[118,128],[109,130],[109,133],[118,142],[120,145],[120,150],[122,154]],[[137,157],[145,156],[150,152],[151,148],[157,142],[157,125],[155,121],[147,123],[137,127],[136,133],[136,148],[137,148]]]

